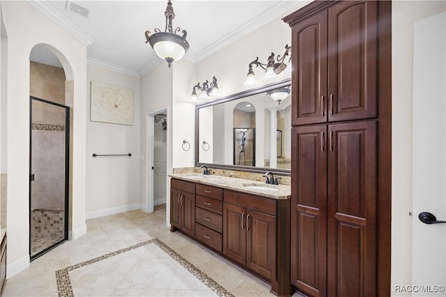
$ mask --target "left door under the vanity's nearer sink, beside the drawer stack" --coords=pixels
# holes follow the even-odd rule
[[[223,253],[246,263],[246,209],[223,203]]]

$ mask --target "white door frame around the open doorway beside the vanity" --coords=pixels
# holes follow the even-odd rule
[[[170,126],[170,113],[169,113],[169,106],[164,106],[160,109],[155,109],[153,111],[150,111],[146,113],[146,199],[145,199],[145,209],[144,211],[146,213],[153,212],[154,207],[154,197],[153,197],[153,163],[154,163],[154,156],[153,156],[153,145],[154,145],[154,135],[155,135],[155,115],[158,113],[166,113],[167,117],[167,127]],[[170,147],[170,137],[171,132],[169,129],[167,129],[167,160],[166,160],[166,166],[167,166],[167,173],[169,173],[169,164],[171,164],[170,160],[170,154],[169,154],[169,147]],[[166,182],[166,195],[169,196],[169,180],[167,179]],[[169,197],[166,197],[166,204],[169,204]],[[169,214],[169,211],[167,212]]]

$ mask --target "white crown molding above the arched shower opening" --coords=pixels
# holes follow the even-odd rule
[[[84,32],[80,31],[77,26],[72,24],[68,19],[63,17],[61,13],[59,13],[57,10],[52,8],[46,1],[33,1],[33,0],[27,0],[28,3],[30,3],[32,6],[37,8],[41,13],[52,19],[56,24],[61,26],[63,29],[68,31],[68,33],[71,33],[71,35],[75,36],[80,42],[82,42],[84,45],[89,47],[93,44],[94,40],[91,39],[88,35],[86,35]]]

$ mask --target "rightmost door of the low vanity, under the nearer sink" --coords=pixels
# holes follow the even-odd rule
[[[276,217],[247,210],[246,235],[246,266],[275,279]]]

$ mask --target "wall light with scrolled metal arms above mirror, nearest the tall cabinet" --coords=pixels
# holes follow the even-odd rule
[[[247,74],[247,79],[245,81],[245,86],[253,86],[254,84],[257,83],[256,78],[254,77],[254,71],[252,70],[252,66],[256,65],[256,67],[261,67],[262,69],[265,70],[265,74],[263,74],[263,79],[264,80],[270,80],[270,79],[274,79],[275,77],[277,77],[277,75],[279,75],[280,73],[282,73],[285,69],[286,69],[286,64],[285,64],[285,58],[286,56],[290,56],[288,62],[291,61],[291,47],[289,47],[288,45],[285,45],[285,52],[283,56],[277,56],[277,63],[275,60],[275,54],[271,53],[271,55],[268,57],[268,63],[261,63],[259,62],[259,57],[256,57],[256,59],[254,61],[252,61],[251,63],[249,63],[249,70],[248,70],[248,74]],[[290,66],[291,67],[291,66]]]

